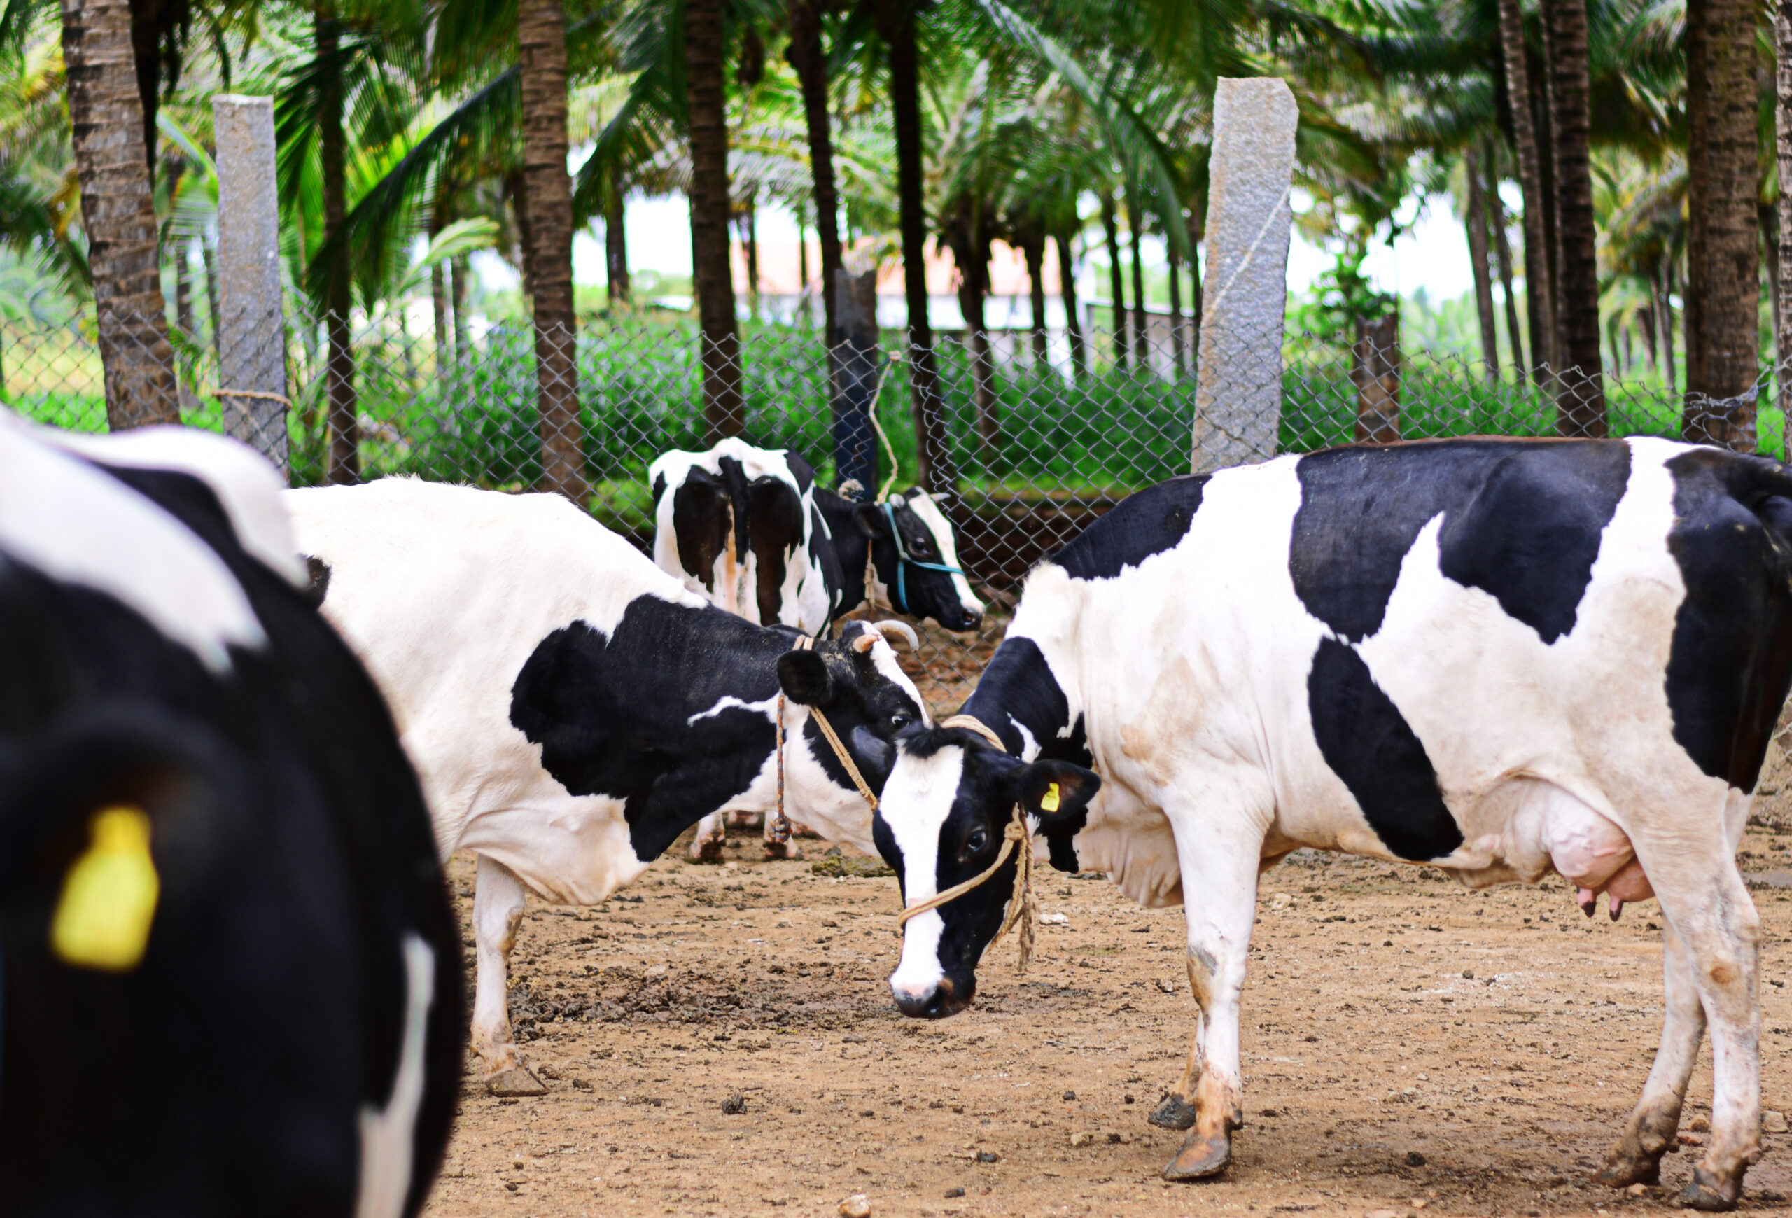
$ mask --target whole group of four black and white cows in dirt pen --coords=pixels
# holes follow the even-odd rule
[[[1661,1044],[1598,1180],[1760,1157],[1735,863],[1792,682],[1792,475],[1659,439],[1349,446],[1174,478],[1027,579],[959,715],[898,663],[980,623],[921,491],[724,441],[649,471],[654,557],[575,505],[0,412],[5,1213],[416,1213],[468,1028],[443,860],[477,854],[470,1044],[525,892],[593,905],[735,813],[880,853],[907,1016],[969,1007],[1030,860],[1181,905],[1170,1180],[1242,1123],[1258,876],[1301,847],[1656,899]],[[864,616],[848,618],[848,613]]]

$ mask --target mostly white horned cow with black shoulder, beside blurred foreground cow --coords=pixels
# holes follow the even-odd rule
[[[871,811],[810,708],[871,786],[921,697],[869,625],[794,650],[724,613],[554,494],[387,478],[290,491],[323,611],[392,706],[443,858],[478,854],[473,1048],[493,1091],[541,1084],[505,1008],[523,890],[595,905],[686,828],[778,804],[862,849]]]

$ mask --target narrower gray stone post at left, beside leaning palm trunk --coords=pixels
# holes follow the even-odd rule
[[[274,99],[211,99],[219,167],[219,407],[224,432],[287,460],[287,321],[280,306]]]

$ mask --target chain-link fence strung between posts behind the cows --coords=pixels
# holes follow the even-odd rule
[[[867,485],[891,480],[894,453],[896,489],[944,491],[961,562],[989,607],[975,636],[921,625],[914,673],[939,711],[969,693],[1034,562],[1192,462],[1446,435],[1692,433],[1785,455],[1785,419],[1765,380],[1758,399],[1693,407],[1688,430],[1668,360],[1600,382],[1514,367],[1489,374],[1478,360],[1401,353],[1394,331],[1360,328],[1353,342],[1288,335],[1279,369],[1274,342],[1258,344],[1267,356],[1210,351],[1202,365],[1190,321],[1133,315],[1116,330],[1100,324],[1109,319],[1097,308],[1081,333],[946,333],[930,353],[901,351],[885,333],[882,351],[842,346],[839,360],[817,328],[745,322],[733,353],[710,344],[704,360],[706,340],[688,319],[633,313],[582,321],[539,360],[527,322],[430,324],[425,306],[421,317],[355,324],[289,321],[285,333],[233,337],[244,328],[215,326],[233,344],[222,358],[211,339],[176,328],[167,358],[179,417],[263,451],[285,441],[294,485],[414,475],[552,487],[647,553],[647,467],[668,450],[737,430],[751,444],[801,451],[823,485],[840,476],[837,444],[857,453],[855,473],[867,473],[873,450]],[[0,401],[43,423],[104,430],[93,322],[0,322]],[[837,410],[855,403],[871,407],[876,444],[849,421],[837,430]]]

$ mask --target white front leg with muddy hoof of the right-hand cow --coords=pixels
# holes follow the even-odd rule
[[[1193,1094],[1181,1100],[1192,1103],[1195,1119],[1163,1179],[1199,1180],[1226,1170],[1231,1132],[1244,1125],[1238,998],[1256,914],[1256,854],[1211,840],[1185,844],[1181,836],[1177,831],[1188,915],[1188,985],[1201,1008],[1197,1053],[1190,1055],[1183,1076]]]

